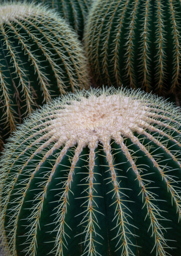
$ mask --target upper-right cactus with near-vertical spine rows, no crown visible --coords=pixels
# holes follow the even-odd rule
[[[95,80],[181,96],[180,16],[181,1],[94,1],[85,41]]]

